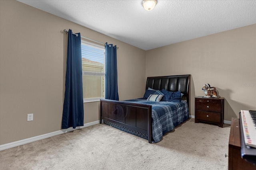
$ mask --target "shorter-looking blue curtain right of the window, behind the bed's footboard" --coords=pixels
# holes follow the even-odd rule
[[[116,45],[106,43],[106,90],[105,99],[119,100],[117,87],[117,61],[116,61]]]

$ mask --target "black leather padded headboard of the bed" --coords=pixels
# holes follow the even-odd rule
[[[146,89],[152,88],[154,90],[162,90],[164,88],[171,92],[180,91],[184,94],[182,99],[187,100],[189,106],[189,84],[190,74],[178,76],[148,77],[146,82]]]

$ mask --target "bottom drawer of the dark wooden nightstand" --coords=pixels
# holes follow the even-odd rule
[[[220,122],[221,121],[221,115],[220,113],[216,112],[209,112],[209,111],[196,111],[196,119],[202,120],[202,121],[212,121],[212,122]]]

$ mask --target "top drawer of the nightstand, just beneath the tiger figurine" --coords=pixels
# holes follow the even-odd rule
[[[203,100],[203,102],[196,101],[196,109],[202,111],[214,111],[221,112],[221,101],[215,100],[214,102],[207,102],[209,100]]]

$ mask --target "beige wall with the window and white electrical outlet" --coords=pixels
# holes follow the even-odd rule
[[[17,1],[0,1],[0,145],[61,129],[67,37],[63,29],[119,47],[120,100],[145,89],[145,51]],[[136,88],[135,88],[136,87]],[[27,114],[34,113],[34,121]],[[84,104],[84,123],[99,102]]]

